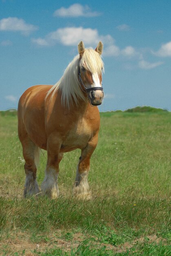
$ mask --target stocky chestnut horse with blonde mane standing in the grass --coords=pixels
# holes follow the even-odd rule
[[[79,148],[81,156],[74,182],[74,195],[91,198],[88,184],[90,158],[98,143],[104,98],[101,58],[103,44],[87,49],[81,41],[73,58],[55,85],[34,85],[18,102],[18,137],[22,144],[26,174],[24,197],[59,195],[58,173],[63,153]],[[40,149],[47,150],[47,165],[41,191],[36,181]]]

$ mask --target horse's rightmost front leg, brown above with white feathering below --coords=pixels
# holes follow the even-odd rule
[[[78,163],[76,180],[74,184],[74,195],[82,199],[90,199],[91,191],[88,184],[88,172],[90,169],[90,158],[98,143],[98,133],[89,140],[87,146],[82,149]]]

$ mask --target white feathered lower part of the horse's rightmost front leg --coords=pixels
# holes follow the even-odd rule
[[[87,181],[88,171],[84,171],[84,173],[79,173],[78,168],[76,172],[76,180],[74,185],[74,195],[80,199],[90,199],[91,191],[89,189],[89,184]]]

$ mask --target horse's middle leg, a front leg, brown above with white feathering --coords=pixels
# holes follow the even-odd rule
[[[58,173],[59,163],[63,154],[60,153],[60,141],[56,141],[56,137],[51,136],[47,142],[47,166],[45,177],[42,182],[42,194],[47,195],[51,199],[56,199],[59,195],[58,189]]]

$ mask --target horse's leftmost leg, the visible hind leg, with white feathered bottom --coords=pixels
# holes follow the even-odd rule
[[[36,161],[39,157],[39,148],[31,141],[28,135],[21,141],[23,157],[25,159],[24,169],[26,180],[24,185],[24,197],[38,194],[39,187],[36,181]]]

